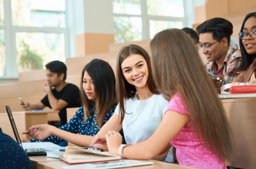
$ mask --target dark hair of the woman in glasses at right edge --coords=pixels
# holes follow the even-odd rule
[[[256,17],[256,12],[248,13],[246,15],[246,17],[244,18],[244,21],[243,21],[240,32],[243,32],[244,24],[245,24],[246,20],[248,20],[248,18],[250,18],[250,17]],[[241,50],[241,55],[243,56],[242,57],[242,63],[241,63],[241,70],[244,71],[248,68],[248,66],[250,66],[250,64],[252,64],[253,58],[256,57],[256,54],[248,54],[246,52],[241,38],[239,38],[239,45],[240,45],[240,48],[241,48],[240,49]]]

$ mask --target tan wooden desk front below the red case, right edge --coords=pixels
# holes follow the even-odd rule
[[[221,99],[234,134],[234,158],[229,165],[256,168],[256,98]]]

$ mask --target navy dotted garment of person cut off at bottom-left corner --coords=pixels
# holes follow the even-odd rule
[[[12,137],[3,133],[0,128],[0,168],[32,168],[26,152]]]

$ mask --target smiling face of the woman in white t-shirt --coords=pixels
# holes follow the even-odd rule
[[[121,64],[125,80],[136,88],[143,88],[148,80],[148,66],[145,58],[139,54],[132,54]]]

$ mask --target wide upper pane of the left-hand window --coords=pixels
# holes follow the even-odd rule
[[[12,0],[15,26],[65,27],[65,0]]]

